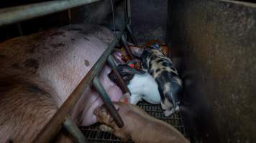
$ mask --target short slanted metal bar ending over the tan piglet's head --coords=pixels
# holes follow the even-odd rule
[[[106,108],[109,110],[111,117],[113,117],[113,119],[114,119],[114,122],[116,122],[118,127],[120,127],[120,128],[123,127],[124,122],[122,121],[120,115],[117,113],[116,109],[114,108],[114,105],[111,102],[109,95],[106,93],[106,90],[104,89],[104,87],[101,84],[101,81],[99,80],[98,77],[94,77],[93,86],[99,92],[99,95],[101,96],[101,99],[103,99],[103,101],[106,105]]]

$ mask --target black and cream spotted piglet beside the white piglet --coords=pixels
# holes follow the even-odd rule
[[[145,48],[141,59],[142,68],[157,82],[165,116],[178,112],[183,85],[172,61],[161,52],[158,44]]]

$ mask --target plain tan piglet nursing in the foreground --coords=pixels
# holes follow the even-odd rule
[[[124,141],[132,138],[135,143],[188,142],[188,139],[183,137],[177,129],[166,122],[151,117],[140,107],[123,102],[114,102],[114,106],[124,121],[124,127],[119,128],[106,107],[102,105],[94,109],[93,112],[97,120],[104,124],[101,125],[101,130],[112,132]]]

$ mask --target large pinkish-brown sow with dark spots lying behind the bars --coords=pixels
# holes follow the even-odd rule
[[[102,26],[76,24],[2,42],[0,142],[32,142],[113,39]],[[108,79],[109,72],[104,66],[99,78],[118,101],[122,91]],[[101,104],[99,94],[88,88],[71,117],[79,126],[93,124],[93,108]]]

